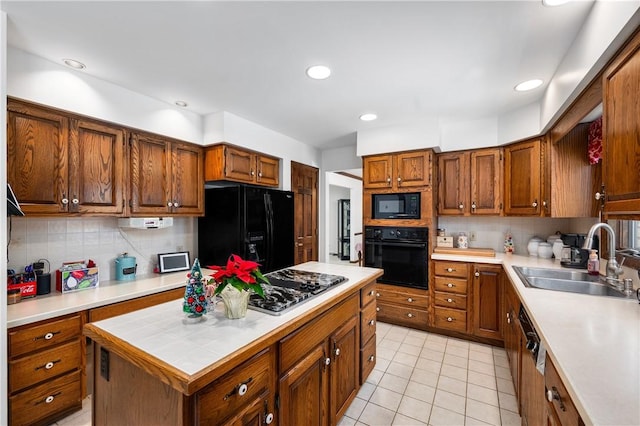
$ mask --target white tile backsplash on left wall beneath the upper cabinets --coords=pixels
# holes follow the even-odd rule
[[[100,280],[115,279],[115,258],[124,252],[136,257],[138,274],[150,274],[158,253],[189,251],[191,261],[198,244],[198,220],[176,217],[163,229],[119,228],[118,219],[26,218],[7,220],[7,265],[22,271],[25,265],[47,259],[54,271],[63,262],[93,259]]]

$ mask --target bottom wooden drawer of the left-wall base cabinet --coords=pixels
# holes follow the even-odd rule
[[[82,409],[80,372],[59,377],[9,398],[9,424],[34,424],[56,413]]]

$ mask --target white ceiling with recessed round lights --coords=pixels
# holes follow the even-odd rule
[[[2,1],[11,46],[207,115],[228,111],[320,148],[424,117],[541,99],[592,7],[576,1]],[[305,69],[326,64],[324,81]],[[531,78],[545,86],[513,87]],[[358,117],[375,112],[379,119]]]

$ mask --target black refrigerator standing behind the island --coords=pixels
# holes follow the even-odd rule
[[[263,273],[293,265],[293,199],[293,192],[254,186],[206,188],[200,264],[226,265],[233,253],[260,263]]]

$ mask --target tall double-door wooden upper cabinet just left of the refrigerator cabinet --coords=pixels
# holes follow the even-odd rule
[[[203,213],[200,147],[142,133],[132,133],[130,144],[131,214]]]

